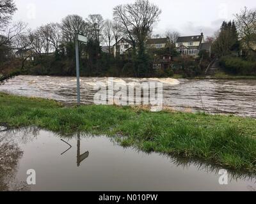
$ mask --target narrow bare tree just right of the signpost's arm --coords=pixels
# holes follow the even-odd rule
[[[104,29],[104,20],[102,18],[102,15],[100,14],[89,15],[88,18],[86,18],[86,22],[89,25],[90,38],[99,43],[102,42],[103,29]]]

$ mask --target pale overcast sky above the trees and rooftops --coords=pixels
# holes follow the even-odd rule
[[[29,27],[48,22],[60,22],[69,14],[101,14],[103,18],[112,18],[113,7],[118,4],[132,3],[134,0],[15,0],[18,11],[13,20],[22,20]],[[233,14],[247,6],[256,8],[255,0],[151,0],[161,8],[160,22],[154,27],[155,34],[164,34],[166,30],[179,31],[182,35],[204,32],[211,36],[219,29],[223,20],[233,19]]]

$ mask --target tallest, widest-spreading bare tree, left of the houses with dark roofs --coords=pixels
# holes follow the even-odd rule
[[[136,43],[143,52],[147,36],[152,33],[153,25],[159,20],[161,10],[148,0],[136,0],[132,4],[119,5],[114,8],[113,16],[120,22],[122,31],[132,41],[134,50]]]

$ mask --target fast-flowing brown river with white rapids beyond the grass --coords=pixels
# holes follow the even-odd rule
[[[108,78],[81,77],[81,102],[93,103],[98,82]],[[163,83],[163,105],[188,112],[230,113],[256,117],[256,80],[175,80],[172,78],[114,78],[115,84],[136,87],[142,82]],[[76,103],[75,77],[19,76],[0,85],[0,91]]]

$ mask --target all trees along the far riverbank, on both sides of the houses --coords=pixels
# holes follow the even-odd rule
[[[123,76],[147,77],[155,75],[152,69],[152,53],[147,52],[146,41],[153,35],[153,28],[159,22],[161,9],[148,0],[135,0],[134,3],[120,4],[113,8],[113,19],[106,19],[100,14],[68,15],[61,22],[51,22],[31,30],[24,22],[11,24],[17,7],[13,0],[0,0],[0,64],[13,61],[10,57],[15,51],[27,52],[35,56],[33,62],[24,55],[20,69],[32,74],[75,75],[74,36],[83,34],[88,43],[79,44],[81,55],[81,73],[84,76]],[[223,22],[220,31],[207,41],[212,44],[216,57],[241,53],[247,50],[246,57],[255,56],[252,41],[256,41],[256,11],[244,8],[230,22]],[[167,31],[173,45],[180,34]],[[114,57],[111,45],[120,38],[127,38],[132,43],[131,52],[124,57]],[[101,50],[101,45],[108,46],[108,53]],[[175,46],[169,49],[175,53]],[[168,49],[167,49],[168,50]],[[248,58],[249,58],[248,57]],[[255,59],[255,58],[254,58]]]

